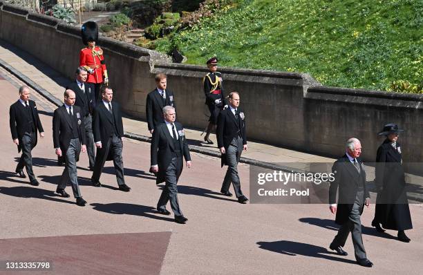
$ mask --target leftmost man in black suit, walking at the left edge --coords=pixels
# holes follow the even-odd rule
[[[23,167],[32,185],[39,185],[32,171],[31,150],[37,144],[37,130],[39,137],[44,138],[44,130],[39,120],[37,106],[29,99],[30,91],[27,86],[19,88],[19,100],[10,106],[10,132],[12,140],[18,146],[18,153],[22,150],[21,158],[17,164],[15,172],[20,178],[26,178]]]

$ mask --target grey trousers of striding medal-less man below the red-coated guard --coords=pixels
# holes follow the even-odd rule
[[[109,155],[110,150],[113,153],[113,165],[116,171],[116,180],[118,180],[119,185],[123,185],[125,184],[122,158],[123,143],[117,135],[113,135],[113,137],[109,138],[106,144],[102,144],[102,149],[97,149],[94,172],[91,180],[93,180],[93,182],[100,180],[100,176],[102,176],[104,169],[104,163],[106,163],[107,155]]]

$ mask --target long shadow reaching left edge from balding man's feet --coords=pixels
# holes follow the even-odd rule
[[[75,204],[75,202],[57,198],[59,195],[53,191],[35,187],[0,187],[0,193],[17,198],[39,198],[42,200]]]

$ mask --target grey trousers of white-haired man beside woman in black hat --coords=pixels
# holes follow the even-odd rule
[[[332,245],[335,247],[344,247],[348,234],[351,232],[353,238],[354,253],[356,260],[364,260],[366,257],[366,249],[364,249],[363,238],[361,237],[361,221],[360,221],[360,210],[364,203],[364,191],[358,191],[351,209],[348,221],[341,225],[337,236],[332,241]]]

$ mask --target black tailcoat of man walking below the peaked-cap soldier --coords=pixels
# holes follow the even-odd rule
[[[235,116],[230,108],[220,111],[216,129],[218,148],[225,147],[225,150],[227,150],[229,144],[231,144],[232,140],[238,136],[240,132],[243,138],[243,144],[247,144],[245,115],[241,108],[238,107],[237,111],[240,114],[238,116]],[[222,154],[222,166],[224,164],[226,164],[226,154]]]

